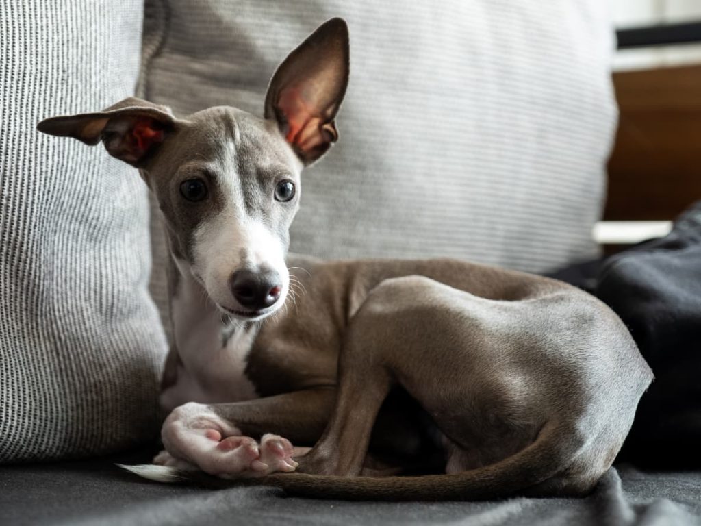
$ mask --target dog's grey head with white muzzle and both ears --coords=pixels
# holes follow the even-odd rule
[[[284,303],[299,175],[337,140],[334,119],[347,83],[348,28],[336,18],[278,67],[264,119],[233,107],[177,119],[166,107],[128,98],[37,128],[102,142],[139,168],[163,211],[181,271],[191,272],[220,309],[254,320]]]

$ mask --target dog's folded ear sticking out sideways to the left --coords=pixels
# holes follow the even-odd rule
[[[104,112],[45,119],[36,129],[90,145],[102,141],[111,156],[141,166],[174,126],[175,118],[167,107],[129,97]]]

